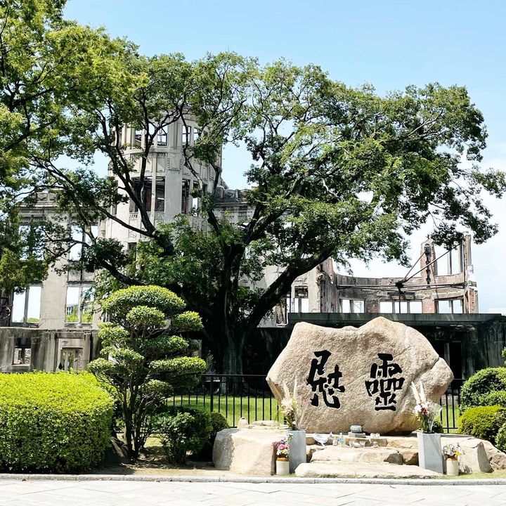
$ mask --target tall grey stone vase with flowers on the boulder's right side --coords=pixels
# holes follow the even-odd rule
[[[441,435],[432,432],[434,418],[441,413],[439,404],[427,400],[423,385],[420,382],[420,391],[414,383],[411,389],[415,396],[413,413],[417,417],[421,432],[417,432],[418,461],[420,467],[431,469],[443,474],[443,456],[441,455]]]

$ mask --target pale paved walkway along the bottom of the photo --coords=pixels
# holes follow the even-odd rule
[[[0,506],[506,505],[505,485],[0,480]]]

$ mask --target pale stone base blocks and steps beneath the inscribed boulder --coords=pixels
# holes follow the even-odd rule
[[[216,469],[248,475],[275,474],[273,441],[285,437],[284,429],[224,429],[216,435],[213,461]],[[366,439],[369,441],[369,438]],[[316,444],[307,434],[307,463],[295,470],[296,476],[342,477],[434,477],[441,474],[418,467],[417,436],[385,436],[385,446],[341,448]],[[363,441],[363,439],[362,439]],[[374,439],[372,440],[374,441]],[[458,443],[464,454],[459,458],[461,473],[493,472],[506,469],[506,454],[488,441],[460,434],[441,434],[441,446]]]

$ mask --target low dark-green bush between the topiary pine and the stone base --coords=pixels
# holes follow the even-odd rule
[[[154,420],[154,431],[170,462],[182,464],[186,454],[199,453],[209,440],[212,425],[209,413],[192,406],[169,406]]]

